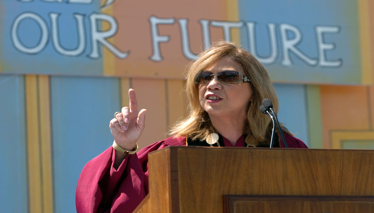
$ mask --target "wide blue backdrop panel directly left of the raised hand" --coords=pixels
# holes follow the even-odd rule
[[[109,122],[120,107],[118,78],[51,77],[55,213],[76,212],[85,164],[113,143]]]

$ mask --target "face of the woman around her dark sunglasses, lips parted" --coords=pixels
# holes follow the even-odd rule
[[[224,56],[213,62],[204,71],[213,74],[221,71],[236,71],[244,74],[242,66],[230,56]],[[214,75],[209,83],[199,84],[199,102],[201,107],[208,112],[209,117],[228,115],[233,118],[246,117],[248,104],[252,99],[252,87],[249,82],[223,84],[218,81],[217,75]]]

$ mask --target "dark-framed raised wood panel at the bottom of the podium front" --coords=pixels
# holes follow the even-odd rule
[[[345,196],[224,196],[227,213],[370,213],[374,198]]]

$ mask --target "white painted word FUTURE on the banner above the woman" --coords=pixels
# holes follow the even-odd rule
[[[152,35],[152,47],[153,47],[153,55],[150,57],[153,61],[162,61],[162,56],[160,53],[160,45],[161,42],[168,42],[170,37],[168,35],[159,35],[158,33],[158,25],[161,24],[174,24],[174,18],[157,18],[155,16],[151,16],[149,18],[149,22],[151,25],[151,35]],[[270,55],[266,58],[263,58],[257,54],[256,51],[256,42],[255,42],[255,23],[254,22],[230,22],[230,21],[209,21],[200,19],[199,20],[201,28],[202,28],[202,37],[205,49],[210,46],[210,32],[209,27],[221,27],[223,28],[224,39],[227,41],[231,40],[230,34],[232,28],[242,28],[245,27],[248,35],[249,41],[249,49],[252,54],[263,64],[273,64],[278,58],[278,45],[277,45],[277,38],[276,38],[276,25],[273,23],[268,23],[267,28],[269,32],[269,40],[270,40]],[[180,26],[181,32],[181,41],[182,41],[182,52],[187,59],[195,59],[197,55],[191,52],[190,50],[190,43],[188,38],[188,19],[178,19],[178,24]],[[209,26],[210,25],[210,26]],[[294,53],[298,58],[304,61],[307,65],[316,66],[319,65],[321,67],[340,67],[343,63],[342,59],[337,59],[335,61],[328,61],[326,59],[326,51],[327,50],[334,50],[335,44],[334,43],[325,43],[324,42],[324,34],[327,33],[339,33],[340,28],[338,26],[316,26],[315,33],[316,33],[316,42],[318,46],[318,59],[309,58],[306,56],[301,50],[297,48],[297,44],[301,42],[302,34],[301,31],[290,24],[280,24],[279,31],[281,35],[281,46],[283,47],[282,53],[282,65],[290,66],[292,65],[292,61],[290,59],[289,53]],[[293,38],[288,38],[288,33],[294,35]]]

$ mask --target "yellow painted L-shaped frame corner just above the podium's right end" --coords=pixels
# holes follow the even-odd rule
[[[333,149],[341,149],[341,142],[343,140],[374,140],[374,131],[334,131],[331,133]]]

